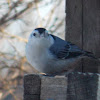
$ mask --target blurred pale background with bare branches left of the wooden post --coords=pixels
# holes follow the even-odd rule
[[[65,0],[0,0],[0,100],[23,100],[23,76],[38,73],[26,60],[34,28],[65,37]]]

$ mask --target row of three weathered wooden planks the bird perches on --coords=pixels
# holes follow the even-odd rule
[[[24,77],[24,100],[100,100],[100,74],[27,75]]]

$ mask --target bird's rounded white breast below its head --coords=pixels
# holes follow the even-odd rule
[[[48,48],[53,44],[49,40],[31,40],[26,45],[26,58],[38,71],[43,72],[48,62],[53,59]]]

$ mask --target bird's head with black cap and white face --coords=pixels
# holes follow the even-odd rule
[[[53,39],[48,33],[49,32],[45,28],[36,28],[30,34],[29,41],[39,45],[48,45],[48,43],[51,44]]]

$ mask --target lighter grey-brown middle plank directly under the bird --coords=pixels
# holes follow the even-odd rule
[[[66,100],[66,77],[42,77],[41,100]]]

